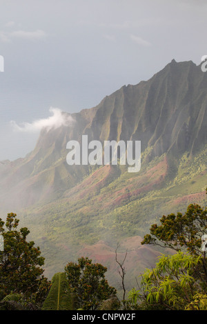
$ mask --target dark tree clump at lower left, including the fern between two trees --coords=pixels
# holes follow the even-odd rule
[[[34,242],[26,241],[29,230],[16,214],[0,219],[4,248],[0,252],[0,310],[95,310],[101,301],[116,295],[105,279],[106,267],[83,257],[68,263],[52,282],[43,276],[44,258]],[[6,229],[4,228],[6,225]]]

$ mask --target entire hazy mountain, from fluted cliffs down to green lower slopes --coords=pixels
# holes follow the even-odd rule
[[[51,276],[86,254],[107,263],[117,242],[128,249],[133,276],[158,252],[141,236],[162,214],[206,205],[207,74],[192,61],[172,60],[150,80],[124,85],[70,124],[43,129],[25,158],[0,163],[1,218],[17,212],[46,257]],[[70,140],[141,141],[141,170],[124,165],[68,165]],[[90,254],[90,255],[89,255]],[[122,254],[120,254],[121,257]]]

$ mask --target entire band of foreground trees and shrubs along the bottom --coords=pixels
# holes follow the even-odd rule
[[[4,239],[0,310],[207,310],[207,258],[206,250],[201,249],[201,236],[207,229],[206,207],[190,204],[185,214],[162,216],[160,225],[151,225],[141,244],[168,247],[172,253],[161,254],[155,267],[141,274],[138,289],[133,287],[123,301],[108,285],[107,268],[87,257],[69,262],[50,283],[42,275],[39,247],[26,241],[26,227],[17,231],[16,216],[10,213],[6,223],[0,220]],[[124,274],[125,260],[126,256],[118,263]],[[124,276],[121,278],[125,295]]]

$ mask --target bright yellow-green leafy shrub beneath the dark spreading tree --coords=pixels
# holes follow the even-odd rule
[[[142,275],[139,290],[130,291],[128,305],[137,310],[207,310],[206,285],[197,280],[201,256],[184,252],[159,258]]]

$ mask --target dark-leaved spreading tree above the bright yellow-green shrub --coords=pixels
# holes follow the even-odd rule
[[[197,274],[207,285],[206,250],[202,250],[202,237],[207,232],[207,209],[190,204],[185,214],[180,212],[162,216],[160,225],[154,224],[150,234],[144,236],[141,244],[170,247],[175,251],[189,252],[195,256],[203,254],[197,265]]]

